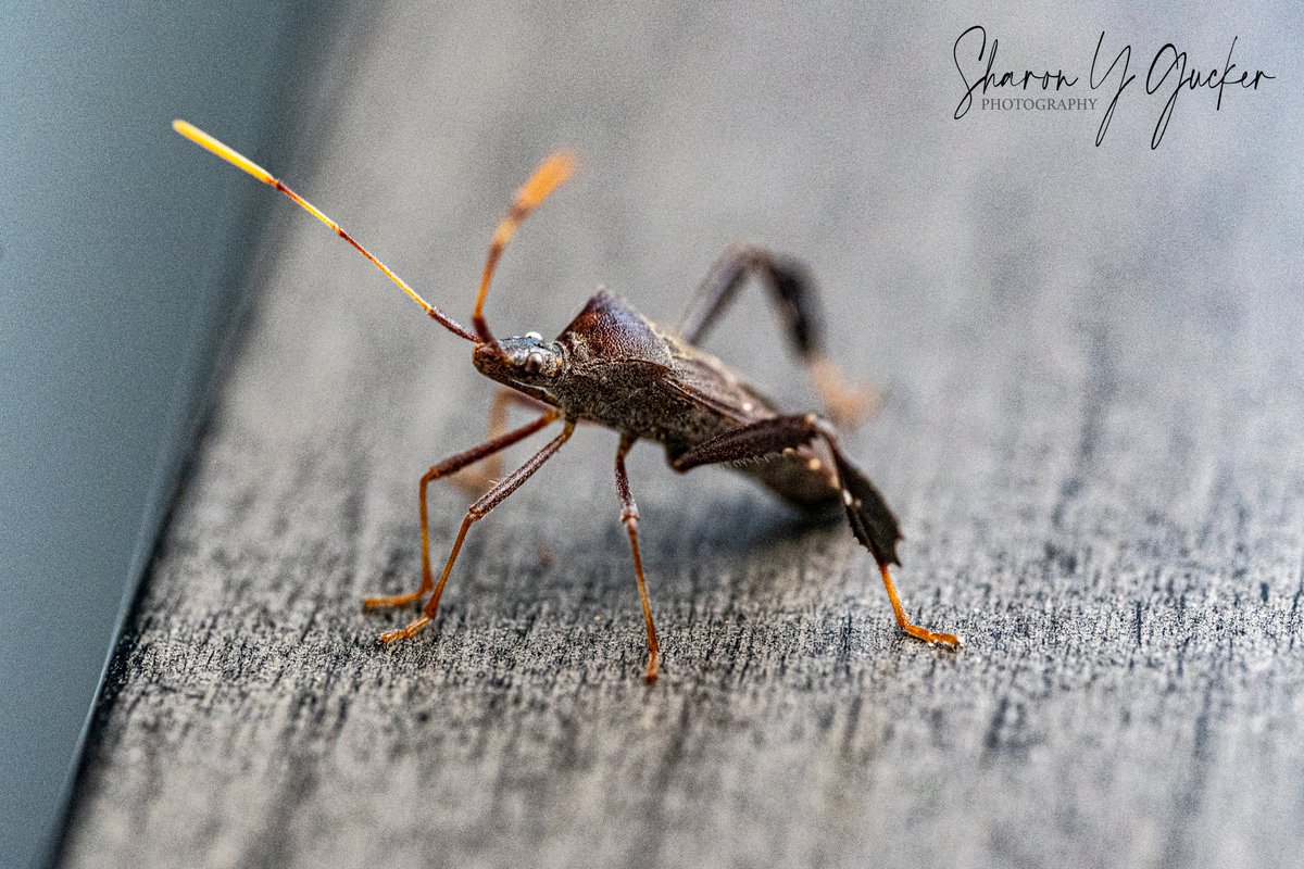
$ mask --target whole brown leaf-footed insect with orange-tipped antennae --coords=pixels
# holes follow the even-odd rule
[[[533,332],[499,340],[489,331],[484,317],[494,267],[520,223],[571,173],[570,155],[558,152],[548,158],[518,192],[507,216],[498,224],[471,315],[475,330],[471,331],[421,298],[339,224],[261,165],[185,121],[173,121],[172,126],[181,135],[276,188],[334,229],[432,319],[475,344],[472,363],[481,374],[506,387],[494,401],[489,440],[445,459],[421,476],[421,586],[409,594],[368,598],[363,606],[396,607],[422,598],[425,605],[421,616],[411,624],[381,634],[385,642],[411,637],[434,619],[439,595],[471,525],[516,491],[561,449],[576,423],[595,422],[621,435],[615,449],[615,489],[621,499],[621,521],[634,554],[634,576],[647,625],[645,676],[649,681],[657,676],[660,653],[639,556],[639,509],[625,473],[625,456],[638,440],[664,444],[670,466],[679,472],[698,465],[729,464],[799,508],[814,512],[841,504],[855,538],[870,550],[879,565],[901,629],[919,640],[952,649],[960,646],[960,637],[921,628],[906,618],[888,571],[889,564],[900,563],[896,545],[901,530],[896,516],[868,477],[838,447],[833,425],[814,413],[782,413],[724,362],[695,347],[734,298],[743,280],[756,275],[769,288],[782,324],[810,369],[829,414],[844,422],[862,416],[865,400],[844,384],[837,369],[823,354],[808,281],[795,263],[751,246],[728,250],[702,284],[678,331],[657,326],[625,300],[600,291],[556,340],[546,341]],[[540,416],[526,426],[505,431],[506,401],[512,399],[533,405]],[[436,581],[426,516],[426,487],[430,482],[475,463],[496,465],[497,453],[502,449],[557,421],[562,422],[561,434],[471,506]]]

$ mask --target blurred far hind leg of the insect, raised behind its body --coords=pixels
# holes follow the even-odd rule
[[[811,383],[828,414],[841,426],[854,427],[872,416],[878,395],[848,386],[841,370],[824,354],[823,323],[806,270],[763,248],[735,245],[725,250],[689,302],[679,335],[690,344],[705,337],[748,275],[764,280]]]

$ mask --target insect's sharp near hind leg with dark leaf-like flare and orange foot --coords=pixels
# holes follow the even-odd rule
[[[906,616],[888,569],[889,564],[901,563],[896,554],[897,541],[901,539],[901,529],[896,516],[879,490],[865,476],[865,472],[852,464],[852,460],[837,446],[837,436],[827,421],[812,413],[762,420],[717,435],[682,453],[670,464],[675,470],[689,470],[698,465],[750,461],[782,453],[785,449],[805,447],[816,438],[824,440],[829,452],[833,453],[833,464],[837,466],[837,485],[841,490],[842,507],[846,508],[852,533],[874,555],[874,560],[879,565],[879,575],[883,577],[883,585],[888,591],[888,601],[892,603],[892,612],[896,615],[901,631],[926,642],[940,642],[958,649],[961,640],[956,634],[921,628]]]

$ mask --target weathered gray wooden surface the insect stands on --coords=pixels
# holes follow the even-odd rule
[[[737,238],[805,258],[836,357],[885,388],[848,446],[902,516],[908,606],[969,645],[900,637],[844,526],[644,447],[665,650],[644,685],[615,439],[582,430],[473,529],[437,628],[381,648],[406,616],[359,599],[416,581],[417,476],[476,442],[490,388],[287,205],[65,865],[1297,860],[1301,128],[1281,16],[1119,35],[1146,55],[1185,33],[1213,65],[1239,33],[1245,65],[1278,66],[1218,115],[1183,98],[1151,152],[1154,102],[1099,150],[1098,113],[953,121],[968,9],[408,5],[346,29],[318,145],[257,156],[466,315],[510,190],[578,147],[578,182],[507,253],[502,332],[559,328],[599,283],[673,321]],[[1101,26],[1132,26],[982,22],[1012,63],[1080,66]],[[712,349],[806,401],[759,292]],[[430,500],[443,550],[468,496]]]

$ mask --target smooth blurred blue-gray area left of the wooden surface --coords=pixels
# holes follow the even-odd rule
[[[286,142],[330,9],[0,14],[0,865],[42,860],[63,823],[267,205],[180,184],[190,155],[167,122],[203,112]]]

